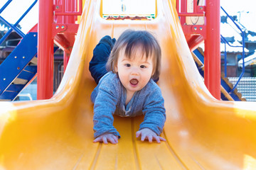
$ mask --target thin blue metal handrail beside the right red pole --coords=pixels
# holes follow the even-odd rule
[[[235,21],[233,20],[233,18],[228,15],[228,13],[224,10],[224,8],[222,6],[220,6],[220,8],[224,11],[224,13],[228,16],[228,18],[230,18],[230,20],[235,24],[235,26],[241,31],[242,33],[242,46],[234,46],[234,45],[230,45],[228,43],[228,41],[222,36],[221,36],[221,40],[223,40],[225,42],[225,44],[227,43],[228,45],[230,45],[230,47],[242,47],[242,73],[240,74],[238,81],[235,83],[235,86],[233,86],[233,89],[231,89],[231,91],[229,91],[229,93],[233,93],[233,91],[235,90],[236,86],[238,86],[238,83],[240,81],[240,79],[242,78],[243,74],[245,74],[245,31],[243,31],[240,26],[238,26],[237,23],[235,23]],[[226,57],[226,49],[225,49],[225,57]],[[225,67],[226,67],[226,62],[225,61]],[[225,73],[226,75],[226,73]]]

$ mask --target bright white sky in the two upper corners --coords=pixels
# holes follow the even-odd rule
[[[0,0],[0,8],[7,0]],[[11,4],[0,14],[9,23],[16,23],[18,18],[26,11],[26,8],[33,4],[35,0],[13,0]],[[138,0],[139,1],[139,0]],[[255,0],[220,0],[220,5],[223,6],[231,16],[238,15],[238,20],[248,30],[256,32],[256,8]],[[18,7],[17,7],[18,6]],[[222,14],[222,13],[221,13]],[[28,13],[21,21],[21,30],[27,33],[38,22],[38,2],[36,6]],[[1,30],[1,28],[0,28]]]

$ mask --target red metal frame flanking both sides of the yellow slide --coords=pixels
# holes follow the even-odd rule
[[[197,6],[196,3],[194,0],[193,13],[188,13],[186,0],[178,0],[177,11],[191,50],[202,40],[206,42],[205,84],[210,93],[220,100],[220,0],[206,0],[206,6]],[[65,51],[66,66],[78,30],[76,16],[81,13],[82,0],[39,0],[38,99],[53,96],[53,40]],[[185,25],[186,16],[206,16],[206,25]]]

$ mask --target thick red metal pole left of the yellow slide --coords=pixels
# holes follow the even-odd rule
[[[37,98],[53,96],[53,0],[39,0]]]

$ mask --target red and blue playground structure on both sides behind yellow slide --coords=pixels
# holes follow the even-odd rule
[[[2,6],[0,13],[9,6],[11,1],[8,0]],[[36,24],[26,35],[17,28],[17,25],[26,16],[28,11],[33,8],[36,2],[37,0],[33,1],[33,4],[29,6],[28,10],[23,13],[14,25],[8,23],[3,17],[0,18],[1,21],[4,21],[11,28],[1,38],[0,42],[3,42],[12,30],[16,31],[23,38],[14,52],[11,52],[11,55],[5,60],[4,64],[0,66],[0,72],[2,73],[0,74],[0,101],[13,101],[36,76],[38,77],[37,98],[47,99],[53,96],[53,54],[57,50],[57,48],[53,48],[53,43],[63,50],[64,71],[68,64],[70,52],[75,41],[75,34],[78,30],[77,16],[80,16],[82,13],[82,0],[41,1],[38,21],[40,31],[38,31],[38,24]],[[214,3],[215,5],[212,5]],[[206,9],[208,13],[218,13],[218,6],[220,4],[217,1],[213,1],[213,3],[207,1],[207,4],[203,0],[197,2],[191,0],[177,1],[176,9],[180,16],[181,26],[185,33],[188,47],[190,47],[193,53],[194,60],[201,76],[205,79],[206,86],[215,98],[220,99],[221,96],[221,99],[224,101],[245,101],[245,98],[242,98],[242,95],[235,89],[245,71],[244,62],[242,62],[243,72],[235,86],[225,78],[227,62],[225,62],[225,74],[220,79],[219,17],[216,15],[206,16]],[[185,6],[188,6],[188,8],[186,9]],[[101,13],[101,16],[103,16],[103,13]],[[206,20],[206,18],[210,19]],[[242,32],[242,35],[244,56],[244,32]],[[223,36],[221,40],[226,43]],[[206,42],[206,52],[204,52],[206,56],[203,55],[203,52],[199,52],[196,49],[203,41]],[[23,47],[26,47],[26,50],[23,50]],[[25,58],[26,60],[24,60]]]

